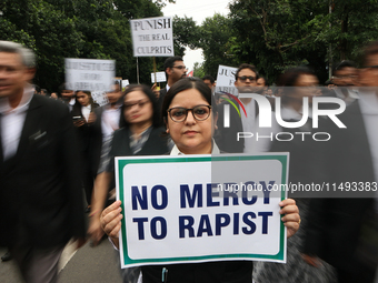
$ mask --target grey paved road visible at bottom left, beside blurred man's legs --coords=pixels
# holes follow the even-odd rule
[[[0,249],[0,255],[6,249]],[[60,283],[121,283],[118,253],[108,240],[99,246],[87,243],[74,252],[73,244],[66,247],[61,259]],[[22,283],[14,261],[0,262],[1,283]]]

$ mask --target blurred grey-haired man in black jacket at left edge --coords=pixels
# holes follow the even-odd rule
[[[27,282],[56,282],[61,252],[86,235],[68,108],[33,95],[33,53],[0,41],[0,245]]]

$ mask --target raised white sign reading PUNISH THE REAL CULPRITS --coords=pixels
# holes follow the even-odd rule
[[[130,20],[133,57],[172,57],[172,19],[169,17]]]

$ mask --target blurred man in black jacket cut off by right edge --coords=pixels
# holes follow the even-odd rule
[[[322,131],[331,139],[311,163],[317,183],[329,191],[312,199],[308,215],[305,260],[319,265],[318,256],[337,270],[338,282],[372,283],[378,264],[378,42],[364,54],[359,73],[360,99],[339,115],[347,129],[332,122]]]

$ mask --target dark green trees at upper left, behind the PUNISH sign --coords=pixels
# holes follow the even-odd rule
[[[168,0],[172,2],[171,0]],[[64,58],[113,59],[117,77],[137,81],[130,19],[162,16],[167,0],[3,0],[0,39],[23,43],[38,58],[34,82],[56,91]],[[157,60],[162,64],[163,58]],[[150,83],[152,58],[140,58],[140,81]]]

